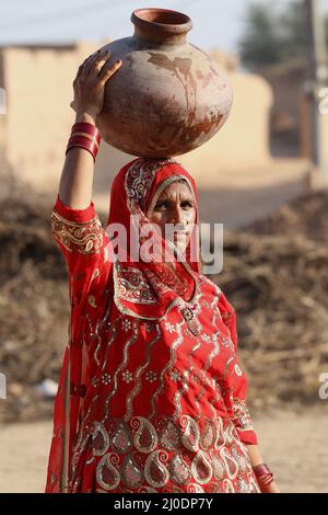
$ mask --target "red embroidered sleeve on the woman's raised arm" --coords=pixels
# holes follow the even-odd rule
[[[51,211],[51,232],[69,272],[70,297],[80,304],[99,290],[112,270],[113,255],[108,236],[95,211],[94,203],[85,209],[73,209],[59,195]],[[90,295],[90,304],[94,296]]]

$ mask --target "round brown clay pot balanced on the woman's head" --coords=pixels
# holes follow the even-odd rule
[[[131,14],[134,34],[116,39],[109,64],[122,60],[107,81],[102,137],[132,156],[166,158],[200,147],[225,123],[232,88],[224,70],[187,43],[192,27],[180,12],[147,8]]]

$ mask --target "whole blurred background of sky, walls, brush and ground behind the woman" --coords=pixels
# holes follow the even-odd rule
[[[74,122],[72,82],[85,57],[132,35],[141,7],[150,4],[1,5],[0,492],[45,488],[70,312],[50,213]],[[224,224],[223,272],[211,278],[237,311],[263,459],[283,492],[327,492],[328,0],[155,7],[191,18],[188,41],[234,89],[225,126],[178,161],[197,180],[202,221]],[[113,178],[131,158],[102,142],[93,201],[103,222]]]

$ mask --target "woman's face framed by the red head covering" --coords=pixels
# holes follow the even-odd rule
[[[153,209],[148,211],[148,218],[161,228],[164,238],[173,241],[178,250],[184,252],[196,220],[195,199],[187,182],[169,184],[157,198]]]

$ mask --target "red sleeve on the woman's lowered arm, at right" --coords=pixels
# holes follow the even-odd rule
[[[236,312],[222,291],[219,298],[219,309],[222,321],[230,330],[234,347],[234,356],[229,367],[227,394],[224,396],[224,401],[241,440],[244,444],[257,445],[257,434],[254,430],[247,407],[248,379],[241,367],[237,355],[238,335]]]

